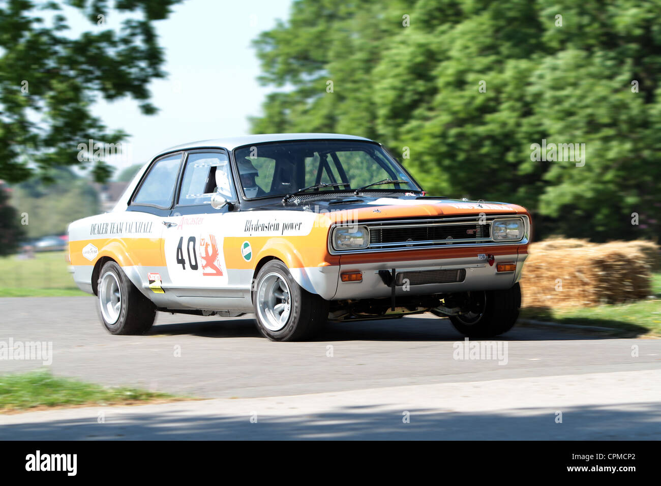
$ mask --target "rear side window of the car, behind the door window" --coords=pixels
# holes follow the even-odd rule
[[[172,204],[175,193],[176,176],[179,172],[181,153],[167,155],[157,160],[149,169],[132,204],[146,204],[167,209]]]

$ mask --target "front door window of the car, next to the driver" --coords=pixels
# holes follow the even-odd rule
[[[179,206],[210,204],[216,192],[234,199],[229,159],[221,152],[192,152],[188,154],[184,179],[181,183]]]

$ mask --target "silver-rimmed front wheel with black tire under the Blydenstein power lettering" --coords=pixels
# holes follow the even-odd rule
[[[301,288],[279,260],[262,266],[255,289],[257,327],[271,341],[311,339],[327,321],[328,301]]]

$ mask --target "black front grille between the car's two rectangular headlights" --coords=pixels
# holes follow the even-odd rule
[[[370,225],[369,247],[389,249],[490,241],[491,225],[478,222]]]

